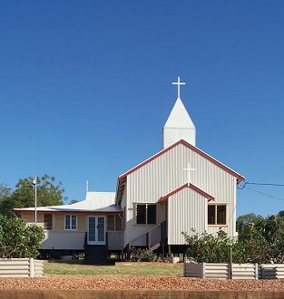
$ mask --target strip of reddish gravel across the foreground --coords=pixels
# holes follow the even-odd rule
[[[0,278],[0,290],[188,290],[283,291],[279,280],[219,280],[138,275],[44,275]]]

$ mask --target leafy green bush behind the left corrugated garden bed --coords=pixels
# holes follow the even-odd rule
[[[24,258],[38,256],[40,243],[44,240],[44,228],[26,226],[20,217],[0,215],[0,256]]]

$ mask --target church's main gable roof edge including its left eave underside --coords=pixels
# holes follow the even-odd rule
[[[152,160],[157,159],[158,157],[162,156],[167,151],[169,151],[169,150],[171,150],[171,149],[179,146],[180,144],[182,144],[183,146],[185,146],[185,147],[193,150],[197,154],[201,155],[201,157],[203,157],[204,159],[208,159],[213,164],[215,164],[216,166],[220,167],[220,169],[223,169],[223,170],[227,171],[228,173],[230,173],[230,175],[232,175],[233,177],[237,178],[237,184],[239,184],[242,180],[245,179],[239,173],[237,173],[236,171],[230,169],[226,165],[222,164],[219,160],[212,158],[210,155],[208,155],[207,153],[205,153],[201,149],[198,149],[198,148],[194,147],[193,145],[191,145],[190,143],[186,142],[185,140],[179,140],[179,141],[173,143],[170,147],[168,147],[166,149],[162,149],[161,151],[159,151],[158,153],[156,153],[155,155],[153,155],[151,158],[144,160],[142,163],[138,164],[134,168],[132,168],[132,169],[124,172],[121,176],[119,176],[118,180],[117,180],[117,188],[116,188],[116,198],[115,198],[115,201],[120,201],[122,199],[123,189],[124,189],[124,186],[125,186],[125,183],[126,183],[127,176],[129,176],[130,174],[132,174],[132,172],[136,171],[137,169],[141,169],[143,166],[147,165]]]

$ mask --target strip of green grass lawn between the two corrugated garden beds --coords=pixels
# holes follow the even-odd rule
[[[116,265],[83,265],[44,262],[44,275],[170,275],[182,276],[181,264],[116,263]]]

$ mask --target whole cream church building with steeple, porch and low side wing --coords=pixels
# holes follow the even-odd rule
[[[180,97],[162,130],[162,150],[129,169],[116,192],[87,192],[73,205],[38,207],[43,251],[84,251],[90,262],[129,246],[182,252],[181,232],[222,229],[236,236],[236,187],[244,178],[195,146],[195,126]],[[16,208],[29,223],[34,207]]]

